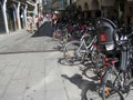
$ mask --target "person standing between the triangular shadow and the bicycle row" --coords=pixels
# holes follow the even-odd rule
[[[55,39],[55,32],[57,32],[57,28],[58,28],[58,16],[54,12],[52,16],[52,28],[53,28],[53,39]]]

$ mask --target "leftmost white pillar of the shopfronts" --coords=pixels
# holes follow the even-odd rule
[[[9,33],[9,27],[8,27],[8,20],[7,20],[7,7],[6,7],[7,0],[3,1],[3,6],[2,6],[2,12],[3,12],[3,20],[4,20],[4,28],[6,28],[6,32]]]

